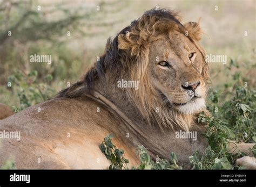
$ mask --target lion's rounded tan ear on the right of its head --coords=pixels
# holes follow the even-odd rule
[[[184,27],[186,28],[185,33],[197,41],[201,39],[201,34],[203,33],[199,26],[199,22],[200,22],[200,19],[198,23],[190,21],[184,24]]]

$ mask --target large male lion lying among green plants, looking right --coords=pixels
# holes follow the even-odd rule
[[[199,112],[210,114],[201,33],[199,23],[181,24],[171,10],[146,11],[107,40],[82,80],[0,122],[0,131],[21,134],[2,140],[0,166],[12,159],[18,169],[107,169],[99,145],[113,134],[129,167],[140,163],[143,145],[153,159],[174,152],[189,168],[188,157],[208,145],[197,122]],[[196,132],[196,140],[177,138],[179,131]]]

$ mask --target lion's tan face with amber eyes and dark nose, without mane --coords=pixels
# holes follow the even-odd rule
[[[180,32],[171,32],[152,42],[149,79],[165,104],[184,114],[205,107],[205,60],[194,43]]]

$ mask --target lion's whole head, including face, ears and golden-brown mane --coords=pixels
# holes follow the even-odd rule
[[[119,103],[129,99],[125,105],[150,124],[188,130],[193,115],[205,110],[208,75],[200,34],[198,23],[182,25],[170,10],[147,11],[107,41],[104,55],[85,76],[85,89],[76,84],[64,95],[91,92],[100,82],[111,90],[105,93],[123,97]],[[138,81],[139,87],[117,88],[119,80]]]

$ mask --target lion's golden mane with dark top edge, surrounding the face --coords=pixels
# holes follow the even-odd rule
[[[152,9],[144,15],[132,21],[132,23],[120,31],[116,37],[109,38],[105,52],[100,56],[93,67],[87,71],[83,80],[71,85],[59,92],[57,97],[81,97],[83,93],[92,93],[95,83],[100,80],[105,86],[113,87],[117,80],[138,80],[139,89],[124,89],[123,93],[130,99],[130,103],[139,111],[148,124],[157,124],[160,128],[181,127],[188,131],[196,120],[194,115],[182,114],[171,110],[158,97],[158,90],[154,89],[147,78],[147,64],[149,62],[149,46],[158,39],[161,34],[169,34],[172,31],[189,33],[187,35],[194,42],[199,51],[206,55],[204,50],[196,44],[200,39],[201,30],[194,22],[185,25],[180,23],[180,17],[176,12],[167,9]],[[203,67],[203,77],[208,79],[207,64]],[[122,95],[120,95],[122,96]],[[156,107],[159,112],[156,112]]]

